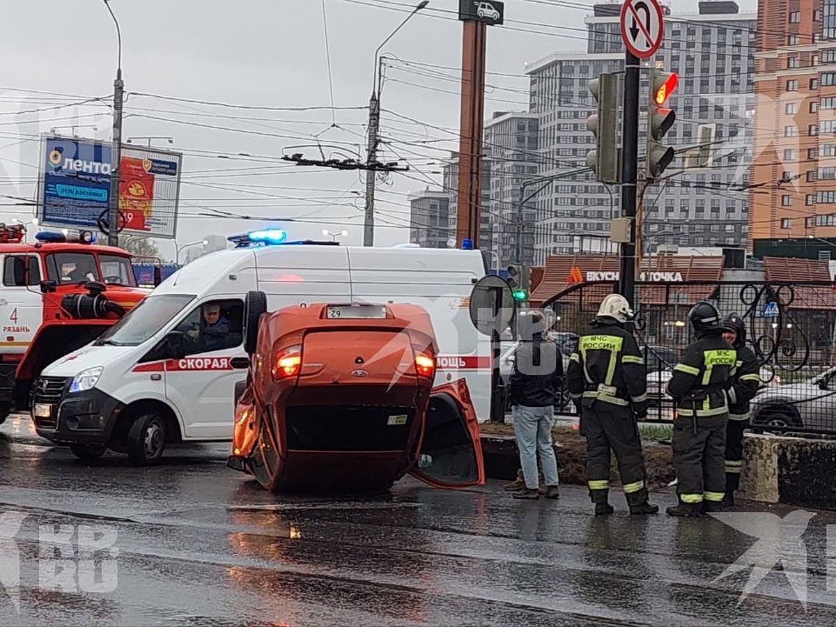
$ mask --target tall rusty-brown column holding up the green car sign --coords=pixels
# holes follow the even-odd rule
[[[485,115],[485,44],[487,27],[465,22],[461,46],[461,123],[456,242],[470,239],[479,247],[482,222],[482,125]]]

